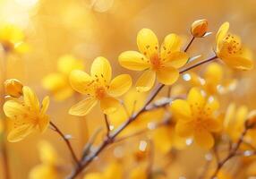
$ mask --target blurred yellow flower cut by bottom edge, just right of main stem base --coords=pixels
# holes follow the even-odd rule
[[[103,172],[94,172],[85,175],[83,179],[123,179],[123,167],[120,162],[113,161],[110,163]]]

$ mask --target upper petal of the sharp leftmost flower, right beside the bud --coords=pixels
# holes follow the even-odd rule
[[[23,99],[26,106],[31,107],[34,110],[39,110],[38,97],[29,87],[23,87]]]

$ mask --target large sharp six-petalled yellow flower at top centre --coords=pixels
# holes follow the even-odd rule
[[[166,36],[161,48],[152,30],[142,29],[137,36],[140,52],[126,51],[119,55],[119,63],[129,70],[144,71],[136,82],[139,91],[150,90],[156,78],[171,85],[179,77],[178,68],[188,61],[188,55],[181,52],[181,39],[176,34]]]

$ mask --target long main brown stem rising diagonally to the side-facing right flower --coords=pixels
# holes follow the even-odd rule
[[[201,64],[205,64],[205,63],[208,63],[209,61],[212,61],[214,59],[216,59],[217,56],[213,56],[213,57],[210,57],[209,59],[207,60],[204,60],[204,61],[201,61],[200,63],[198,64],[193,64],[192,66],[188,67],[188,68],[185,68],[183,69],[182,71],[180,71],[180,73],[183,73],[183,72],[187,72],[189,70],[191,70],[192,68],[195,68]],[[109,136],[104,139],[104,141],[102,141],[101,144],[99,144],[99,147],[98,149],[96,149],[94,152],[91,153],[91,155],[89,155],[87,158],[85,158],[84,161],[81,161],[81,166],[80,167],[77,167],[73,170],[73,173],[71,175],[69,175],[67,178],[68,179],[74,179],[76,176],[78,176],[79,174],[81,174],[82,170],[84,168],[86,168],[87,166],[90,165],[90,163],[96,158],[98,157],[98,154],[101,153],[104,149],[107,148],[107,146],[111,143],[113,143],[113,141],[115,141],[115,137],[120,133],[120,132],[123,132],[124,129],[129,125],[131,124],[136,118],[138,118],[139,115],[141,115],[143,112],[147,111],[147,107],[149,107],[150,103],[153,101],[154,98],[157,97],[158,95],[158,92],[160,90],[162,90],[163,88],[165,87],[164,84],[160,84],[158,85],[158,87],[151,93],[151,95],[149,96],[148,98],[148,101],[145,103],[144,107],[141,108],[141,110],[139,110],[136,114],[130,116],[128,118],[127,121],[124,122],[124,124],[121,124],[119,128],[117,128],[115,130],[115,132],[113,133],[110,133]]]

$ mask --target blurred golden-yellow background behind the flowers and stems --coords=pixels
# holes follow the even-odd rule
[[[209,20],[209,31],[214,32],[222,22],[229,21],[231,30],[240,34],[255,54],[255,7],[255,0],[0,0],[0,27],[6,22],[16,24],[24,30],[25,40],[30,44],[29,53],[7,56],[7,77],[30,86],[41,99],[48,94],[42,88],[42,79],[56,71],[60,56],[72,54],[83,60],[88,72],[93,59],[103,55],[114,66],[115,74],[128,72],[118,65],[117,56],[124,50],[137,49],[135,39],[139,30],[149,28],[160,40],[175,32],[183,36],[185,44],[190,38],[192,21],[202,18]],[[214,38],[215,35],[196,39],[189,54],[211,55]],[[252,108],[256,105],[252,99],[256,94],[254,72],[243,73],[250,79],[239,81],[243,88],[234,94],[235,100]],[[135,73],[134,77],[137,77]],[[62,102],[52,99],[48,114],[65,133],[72,134],[73,146],[79,153],[89,133],[103,125],[103,115],[96,113],[97,108],[80,120],[68,115],[68,109],[77,98],[81,97]],[[30,169],[39,163],[37,144],[41,139],[50,141],[64,161],[71,161],[64,141],[55,132],[48,130],[43,136],[30,135],[24,141],[8,143],[13,178],[28,178]],[[186,168],[181,174],[193,178],[194,167],[203,164],[198,160],[202,158],[201,150],[187,149],[180,158]],[[2,167],[0,178],[1,170]]]

